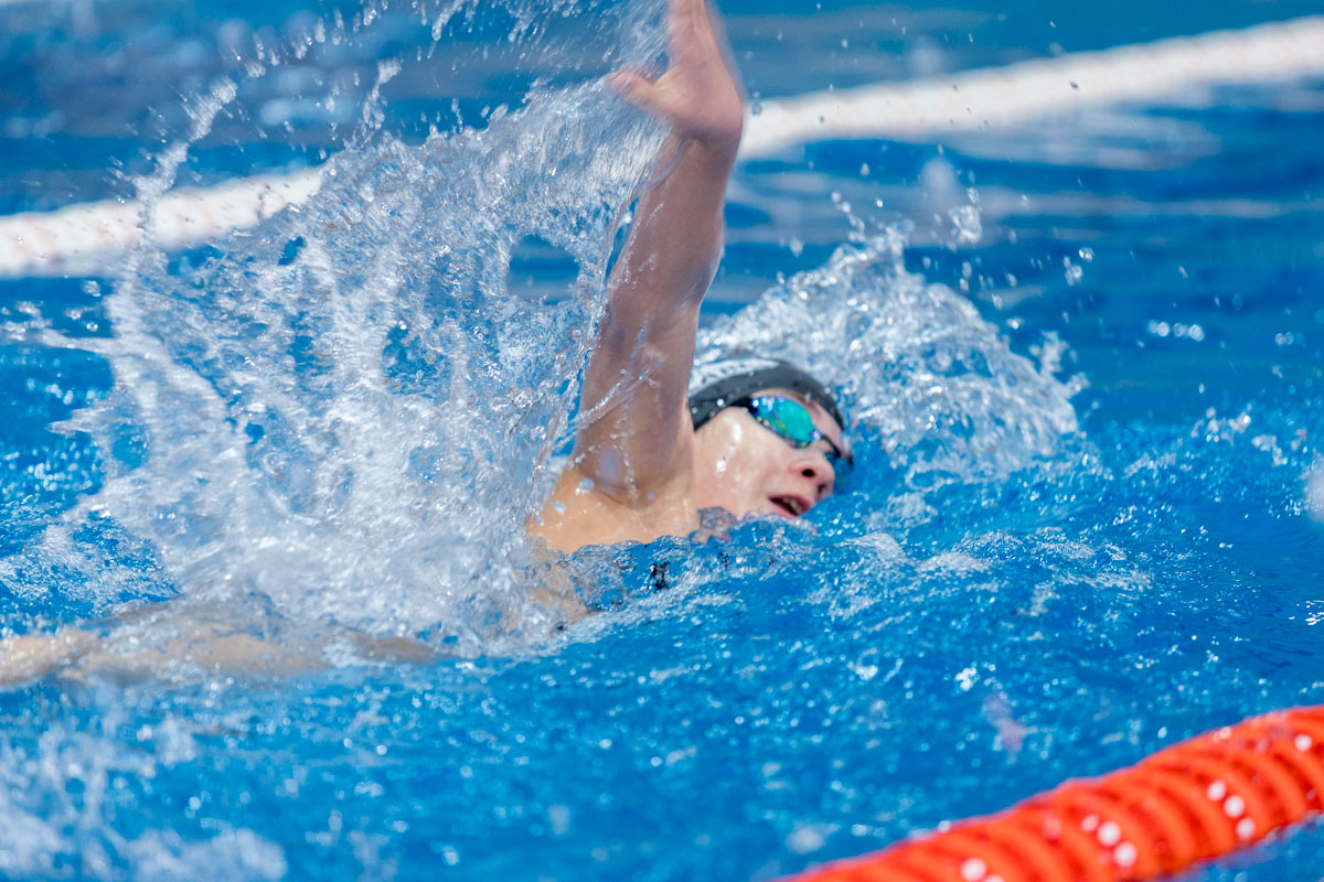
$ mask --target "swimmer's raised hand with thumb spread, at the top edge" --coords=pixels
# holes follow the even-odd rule
[[[608,89],[678,134],[735,149],[744,99],[706,0],[667,0],[667,57],[671,66],[657,79],[617,70]]]

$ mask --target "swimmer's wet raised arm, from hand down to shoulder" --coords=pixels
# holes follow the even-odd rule
[[[585,477],[597,493],[630,509],[687,496],[694,427],[686,385],[699,304],[722,255],[722,204],[744,102],[704,0],[669,0],[667,56],[670,67],[657,79],[630,70],[608,78],[613,91],[671,132],[612,271],[581,397],[589,419],[549,506]],[[692,520],[688,508],[677,517]],[[685,526],[657,510],[646,520],[653,536]],[[548,530],[534,532],[556,545]]]

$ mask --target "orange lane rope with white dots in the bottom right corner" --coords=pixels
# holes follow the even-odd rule
[[[1324,706],[1296,707],[785,882],[1160,879],[1320,812],[1321,800]]]

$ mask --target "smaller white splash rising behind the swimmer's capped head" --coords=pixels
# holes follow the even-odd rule
[[[1083,382],[1055,377],[1061,346],[1039,365],[1013,353],[969,300],[906,271],[904,243],[890,230],[842,246],[700,335],[699,361],[760,352],[804,365],[843,391],[912,488],[1055,456],[1078,430],[1070,399]]]

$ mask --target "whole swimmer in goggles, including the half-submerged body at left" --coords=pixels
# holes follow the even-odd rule
[[[691,369],[699,305],[722,254],[722,208],[744,124],[744,100],[706,0],[669,0],[670,66],[651,79],[620,70],[608,87],[670,127],[608,283],[608,305],[581,391],[583,427],[531,537],[571,553],[650,542],[699,529],[702,509],[735,517],[800,517],[850,461],[831,394],[767,357]],[[535,600],[563,621],[583,616],[573,592]],[[577,608],[567,608],[577,606]],[[281,645],[248,616],[172,600],[101,623],[0,640],[0,685],[60,672],[180,676],[293,673],[322,666],[323,639],[282,628]],[[256,632],[256,629],[258,632]],[[360,659],[420,661],[408,639],[339,639]]]

